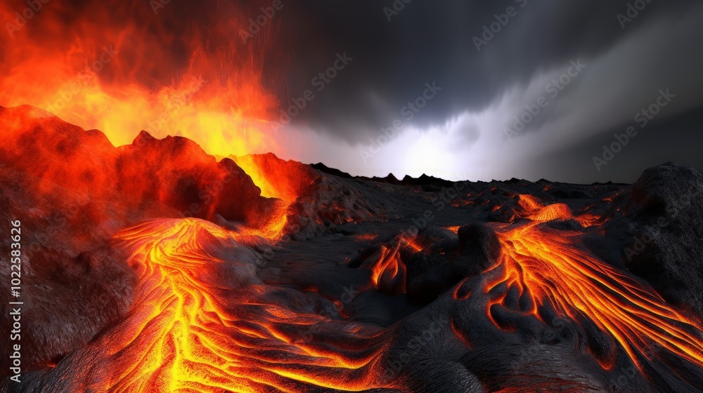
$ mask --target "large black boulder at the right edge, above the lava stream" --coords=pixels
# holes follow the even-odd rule
[[[648,168],[607,213],[621,258],[666,300],[703,318],[703,176],[673,163]]]

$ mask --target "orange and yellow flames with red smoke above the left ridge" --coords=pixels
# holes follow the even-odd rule
[[[41,3],[11,39],[4,34],[0,105],[46,109],[103,131],[115,146],[146,130],[184,136],[220,156],[285,152],[273,138],[280,115],[271,75],[283,62],[269,49],[275,25],[246,43],[240,37],[258,7],[198,5],[218,15],[198,24],[168,2],[155,10],[141,1]],[[25,7],[4,2],[0,20],[15,23]]]

